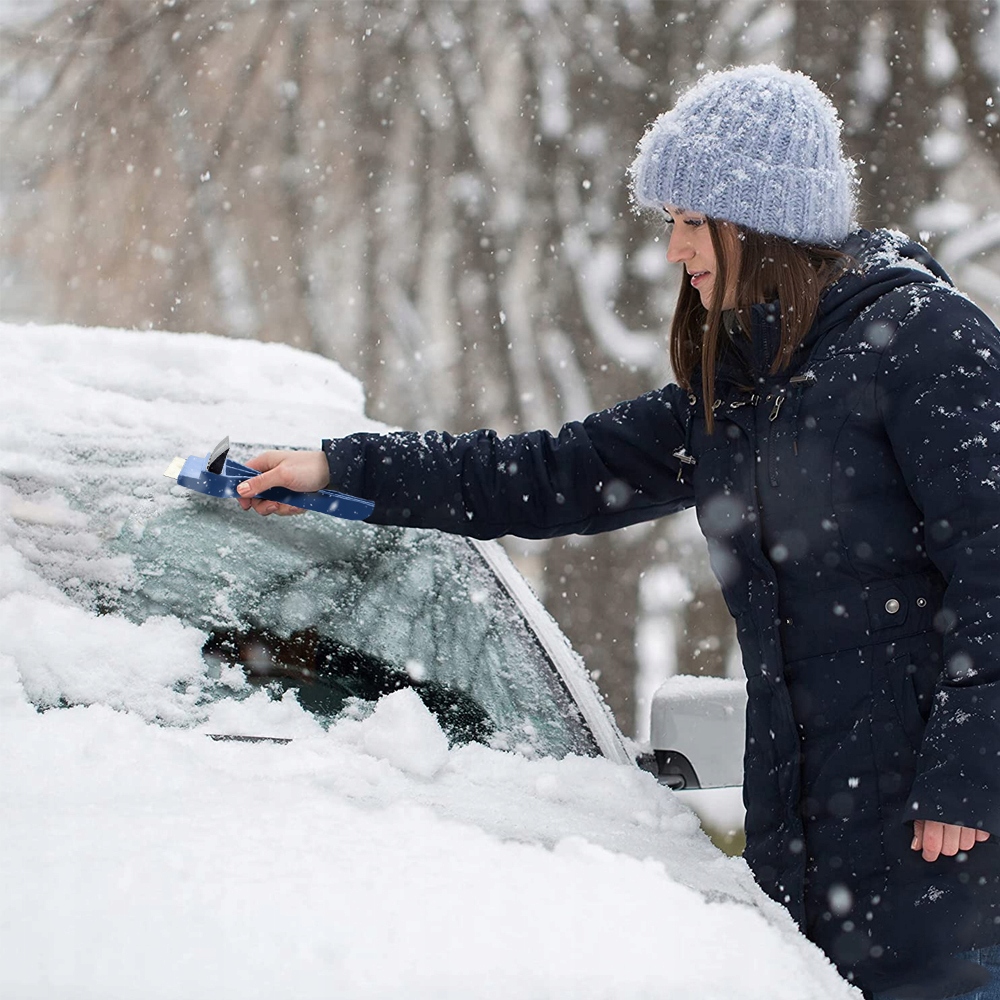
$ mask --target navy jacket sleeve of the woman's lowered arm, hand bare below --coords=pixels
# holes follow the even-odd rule
[[[1000,331],[951,290],[907,294],[877,385],[946,590],[944,663],[906,815],[1000,835]]]

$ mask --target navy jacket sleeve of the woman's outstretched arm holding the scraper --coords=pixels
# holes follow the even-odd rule
[[[374,501],[376,524],[475,538],[593,534],[693,503],[673,454],[687,406],[667,386],[555,435],[354,434],[324,440],[323,450],[331,488]]]

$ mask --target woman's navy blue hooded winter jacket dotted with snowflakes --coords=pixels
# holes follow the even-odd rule
[[[668,385],[556,435],[324,449],[383,524],[541,538],[694,504],[747,674],[746,859],[845,976],[930,988],[1000,943],[1000,332],[900,235],[844,249],[786,371],[773,307],[734,336],[712,434]],[[928,863],[918,818],[991,838]]]

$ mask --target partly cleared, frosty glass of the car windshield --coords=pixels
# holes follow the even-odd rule
[[[104,610],[202,629],[210,670],[238,663],[276,696],[294,688],[326,721],[407,686],[453,743],[597,753],[516,604],[464,539],[187,500],[111,542],[131,558],[134,586],[94,595]]]

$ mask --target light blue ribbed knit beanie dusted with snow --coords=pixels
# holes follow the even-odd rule
[[[830,99],[803,73],[743,66],[702,77],[639,142],[632,195],[761,233],[836,245],[852,227],[854,164]]]

